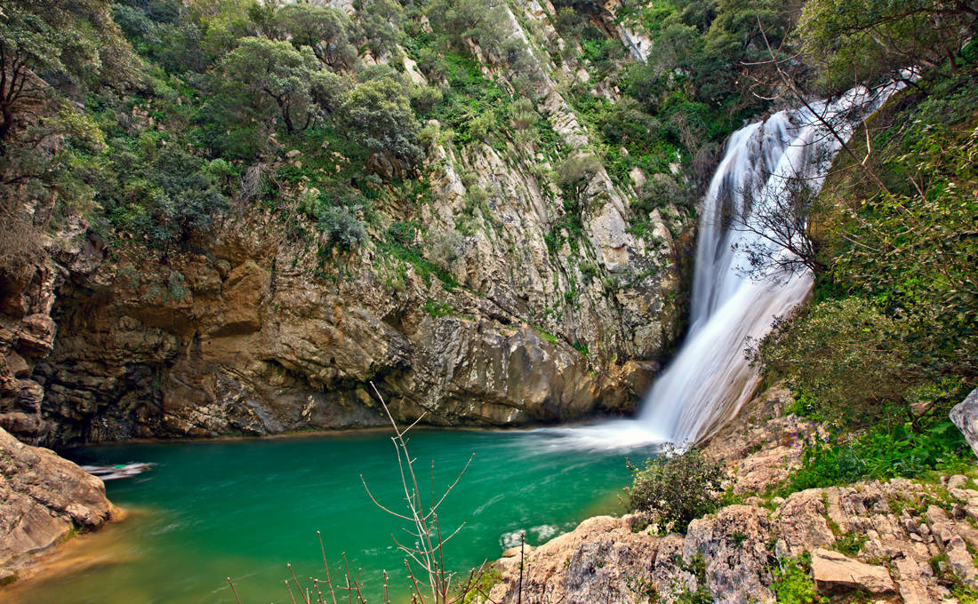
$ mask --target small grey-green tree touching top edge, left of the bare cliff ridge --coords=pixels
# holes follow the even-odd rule
[[[349,67],[356,62],[357,51],[350,43],[353,23],[341,11],[289,4],[279,9],[275,19],[296,48],[308,46],[324,64]]]

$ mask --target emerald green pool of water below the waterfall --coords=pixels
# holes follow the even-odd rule
[[[443,529],[466,523],[446,545],[452,567],[467,571],[498,557],[518,544],[520,531],[539,543],[590,515],[616,511],[614,493],[628,480],[624,453],[570,450],[563,442],[546,432],[413,433],[416,467],[429,477],[434,459],[442,488],[475,453],[440,510]],[[379,601],[384,569],[395,600],[406,593],[403,555],[391,539],[406,538],[405,525],[374,506],[360,482],[363,474],[382,503],[401,509],[396,457],[385,433],[116,445],[69,456],[156,465],[107,483],[111,500],[133,513],[92,536],[103,541],[92,546],[98,564],[32,582],[26,591],[0,590],[0,600],[233,603],[230,576],[245,604],[290,602],[287,562],[300,580],[323,577],[317,530],[331,570],[345,552],[371,601]],[[428,485],[425,478],[422,491]]]

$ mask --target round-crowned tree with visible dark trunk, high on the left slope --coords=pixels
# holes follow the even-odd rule
[[[319,71],[309,47],[296,50],[289,42],[257,36],[244,38],[222,63],[228,86],[242,89],[240,96],[259,113],[271,117],[278,112],[293,133],[316,117],[310,83]]]

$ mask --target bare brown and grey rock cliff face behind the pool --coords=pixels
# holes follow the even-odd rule
[[[587,72],[534,50],[565,43],[555,13],[531,2],[506,9],[504,25],[537,62],[537,111],[563,155],[583,156],[592,133],[560,90]],[[474,51],[487,77],[510,85]],[[299,151],[283,151],[301,165]],[[579,188],[571,234],[556,226],[566,214],[556,158],[444,141],[427,155],[430,196],[386,199],[372,241],[352,252],[324,258],[323,241],[295,236],[301,218],[244,195],[195,252],[109,257],[80,228],[49,245],[30,280],[4,292],[0,425],[48,444],[368,426],[382,420],[370,381],[399,419],[440,425],[634,409],[682,329],[690,237],[678,213],[653,210],[640,217],[647,233],[631,233],[645,175],[616,183],[599,165]],[[299,183],[283,203],[305,192]],[[423,263],[383,244],[395,221],[422,226],[410,243]]]

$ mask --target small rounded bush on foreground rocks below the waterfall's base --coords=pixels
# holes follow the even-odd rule
[[[690,521],[720,504],[724,464],[698,449],[680,453],[669,446],[646,459],[644,468],[628,467],[633,474],[632,486],[625,488],[629,506],[655,514],[662,525],[673,523],[676,531],[685,532]]]

